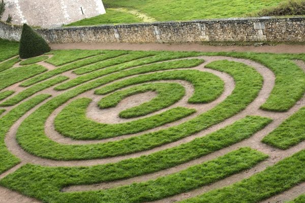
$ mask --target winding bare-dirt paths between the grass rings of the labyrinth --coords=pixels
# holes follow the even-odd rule
[[[89,45],[86,45],[89,46]],[[94,45],[95,46],[95,45]],[[141,46],[141,45],[139,45]],[[147,46],[147,45],[145,45]],[[170,46],[170,45],[164,45],[164,46]],[[68,46],[69,47],[69,46]],[[77,48],[84,48],[84,47],[77,47]],[[93,47],[92,47],[93,48]],[[101,47],[100,47],[101,48]],[[103,47],[105,48],[105,47]],[[172,48],[172,47],[171,47]],[[259,47],[257,47],[259,48]],[[305,50],[305,46],[302,47]],[[72,49],[72,47],[71,47]],[[88,49],[88,48],[86,48]],[[128,47],[126,47],[126,49],[128,49]],[[151,49],[150,49],[151,50]],[[223,50],[223,49],[222,49]],[[286,50],[287,52],[287,50]],[[269,165],[273,165],[276,162],[278,162],[279,160],[282,160],[283,158],[292,155],[295,152],[300,151],[301,149],[305,149],[305,142],[300,143],[299,145],[296,145],[288,150],[279,150],[270,146],[267,146],[265,144],[261,143],[261,140],[264,136],[266,136],[266,134],[268,134],[269,132],[271,132],[273,129],[275,129],[277,126],[279,126],[287,117],[289,117],[290,115],[292,115],[294,112],[296,112],[299,108],[305,106],[305,97],[303,97],[300,101],[298,101],[298,103],[291,108],[288,112],[284,112],[284,113],[275,113],[275,112],[266,112],[266,111],[262,111],[259,109],[259,107],[265,103],[266,99],[268,98],[274,84],[275,84],[275,75],[269,70],[267,69],[265,66],[256,63],[254,61],[251,60],[246,60],[246,59],[236,59],[236,58],[231,58],[231,57],[222,57],[222,56],[215,56],[215,57],[207,57],[207,56],[203,56],[200,57],[205,59],[205,62],[197,67],[194,67],[192,69],[195,70],[199,70],[199,71],[206,71],[206,72],[210,72],[213,73],[217,76],[219,76],[224,82],[225,82],[225,91],[223,92],[223,94],[216,99],[215,101],[209,103],[209,104],[203,104],[203,105],[191,105],[188,106],[190,104],[187,104],[187,99],[192,95],[194,89],[192,87],[192,85],[186,83],[186,82],[182,82],[182,81],[172,81],[172,82],[179,82],[181,85],[183,85],[186,88],[186,96],[184,98],[182,98],[179,103],[177,103],[179,106],[185,106],[185,107],[191,107],[191,108],[196,108],[196,110],[198,111],[198,113],[194,116],[198,116],[198,114],[205,112],[213,107],[215,107],[217,104],[219,104],[222,100],[224,100],[228,95],[231,94],[232,90],[235,87],[234,81],[232,79],[232,77],[230,77],[227,74],[218,72],[218,71],[214,71],[214,70],[209,70],[209,69],[205,69],[204,65],[212,62],[212,61],[216,61],[216,60],[223,60],[223,59],[227,59],[227,60],[232,60],[232,61],[237,61],[237,62],[242,62],[245,64],[248,64],[252,67],[254,67],[263,77],[264,79],[264,83],[263,83],[263,87],[259,93],[259,95],[257,96],[257,98],[250,104],[248,105],[248,107],[241,111],[240,113],[236,114],[235,116],[232,116],[229,119],[226,119],[225,121],[213,125],[210,128],[203,130],[199,133],[195,133],[192,136],[189,136],[187,138],[181,139],[177,142],[173,142],[167,145],[163,145],[160,147],[156,147],[154,149],[151,150],[147,150],[147,151],[143,151],[143,152],[138,152],[138,153],[134,153],[134,154],[130,154],[130,155],[125,155],[125,156],[118,156],[118,157],[113,157],[113,158],[105,158],[105,159],[96,159],[96,160],[83,160],[83,161],[55,161],[55,160],[49,160],[49,159],[44,159],[44,158],[40,158],[40,157],[36,157],[34,155],[28,154],[27,152],[25,152],[16,142],[16,131],[19,127],[19,125],[22,123],[22,121],[28,117],[31,113],[33,113],[35,110],[37,110],[40,106],[42,106],[43,104],[45,104],[47,101],[44,101],[42,104],[38,105],[37,107],[35,107],[33,110],[29,111],[28,113],[26,113],[22,118],[20,118],[10,129],[9,133],[7,134],[6,138],[5,138],[5,143],[8,147],[8,149],[15,154],[17,157],[19,157],[22,162],[20,164],[18,164],[17,166],[15,166],[14,168],[12,168],[11,170],[9,170],[8,172],[0,175],[0,178],[5,177],[6,175],[12,173],[13,171],[17,170],[21,165],[25,164],[25,163],[34,163],[34,164],[41,164],[41,165],[46,165],[46,166],[89,166],[89,165],[96,165],[96,164],[104,164],[104,163],[113,163],[113,162],[117,162],[120,160],[124,160],[127,158],[135,158],[135,157],[139,157],[141,155],[147,155],[147,154],[151,154],[160,150],[164,150],[164,149],[168,149],[168,148],[172,148],[175,146],[178,146],[182,143],[188,143],[196,138],[200,138],[205,136],[206,134],[210,133],[210,132],[214,132],[220,128],[223,128],[227,125],[230,125],[232,123],[234,123],[235,121],[247,116],[247,115],[260,115],[260,116],[266,116],[266,117],[270,117],[273,119],[273,122],[271,124],[269,124],[267,127],[263,128],[262,130],[260,130],[259,132],[255,133],[251,138],[244,140],[240,143],[234,144],[230,147],[224,148],[222,150],[216,151],[214,153],[211,153],[207,156],[203,156],[201,158],[189,161],[187,163],[184,164],[180,164],[177,165],[175,167],[172,168],[168,168],[166,170],[162,170],[156,173],[152,173],[152,174],[148,174],[148,175],[144,175],[144,176],[138,176],[138,177],[134,177],[134,178],[130,178],[130,179],[126,179],[126,180],[119,180],[119,181],[114,181],[111,183],[101,183],[101,184],[94,184],[94,185],[79,185],[79,186],[71,186],[71,187],[67,187],[64,188],[64,191],[79,191],[79,190],[97,190],[97,189],[105,189],[105,188],[111,188],[111,187],[116,187],[116,186],[120,186],[120,185],[126,185],[126,184],[131,184],[133,182],[143,182],[143,181],[147,181],[150,179],[156,179],[158,177],[162,177],[162,176],[166,176],[168,174],[172,174],[172,173],[177,173],[179,171],[185,170],[186,168],[192,166],[192,165],[196,165],[199,163],[202,163],[204,161],[207,160],[211,160],[214,159],[218,156],[222,156],[232,150],[235,149],[239,149],[240,147],[245,147],[245,146],[249,146],[253,149],[257,149],[261,152],[264,152],[266,154],[269,155],[269,158],[263,162],[261,162],[260,164],[256,165],[255,167],[251,168],[250,170],[247,170],[245,172],[230,176],[224,180],[218,181],[214,184],[208,185],[208,186],[204,186],[201,188],[198,188],[196,190],[192,190],[188,193],[182,193],[182,194],[178,194],[169,198],[165,198],[162,199],[160,201],[156,201],[156,202],[173,202],[175,200],[182,200],[182,199],[186,199],[192,196],[196,196],[198,194],[202,194],[203,192],[209,191],[211,189],[215,189],[215,188],[219,188],[219,187],[223,187],[223,186],[228,186],[231,185],[234,182],[240,181],[243,178],[247,178],[250,177],[253,174],[256,174],[260,171],[263,171],[267,166]],[[296,61],[297,64],[302,67],[302,69],[305,70],[305,64],[301,61]],[[41,65],[46,65],[44,62],[40,62],[39,64]],[[48,69],[52,70],[55,67],[52,65],[46,65],[48,67]],[[76,75],[72,74],[71,71],[66,72],[63,75],[67,75],[70,78],[75,78]],[[132,76],[134,77],[134,76]],[[127,77],[129,78],[129,77]],[[121,80],[125,80],[127,78],[121,79]],[[120,81],[120,80],[117,80]],[[114,81],[114,82],[117,82]],[[19,83],[18,83],[19,84]],[[17,92],[23,90],[24,88],[20,88],[18,89],[18,84],[11,86],[8,89],[17,89]],[[107,85],[109,85],[111,83],[108,83]],[[99,87],[100,88],[100,87]],[[149,131],[155,131],[155,130],[159,130],[159,129],[163,129],[163,128],[168,128],[170,126],[174,126],[177,125],[181,122],[185,122],[187,120],[189,120],[190,118],[192,118],[192,116],[189,116],[187,118],[181,119],[179,121],[173,122],[173,123],[169,123],[166,124],[164,126],[160,126],[158,128],[155,128],[153,130],[147,130],[141,133],[137,133],[137,134],[132,134],[132,135],[128,135],[128,136],[123,136],[123,137],[119,137],[119,138],[113,138],[113,139],[105,139],[105,140],[101,140],[101,141],[75,141],[72,140],[70,138],[65,138],[62,135],[60,135],[58,132],[55,131],[54,129],[54,118],[55,116],[65,107],[67,106],[72,100],[75,100],[77,98],[80,97],[90,97],[94,99],[93,102],[93,106],[90,105],[88,108],[88,112],[87,112],[87,116],[89,118],[95,119],[97,122],[104,122],[105,118],[99,118],[100,112],[102,112],[102,110],[99,110],[95,107],[97,101],[99,101],[100,98],[102,98],[102,96],[98,96],[98,95],[94,95],[94,90],[90,90],[87,91],[83,94],[78,95],[77,97],[71,99],[70,101],[68,101],[68,103],[66,103],[63,106],[60,106],[59,108],[57,108],[52,115],[48,118],[46,125],[45,125],[45,129],[46,129],[46,134],[49,138],[51,138],[52,140],[54,140],[55,142],[58,143],[64,143],[64,144],[88,144],[88,143],[101,143],[101,142],[109,142],[109,141],[113,141],[113,140],[119,140],[119,139],[126,139],[128,137],[132,137],[132,136],[139,136],[140,134],[149,132]],[[53,87],[48,88],[46,90],[43,90],[37,94],[40,93],[49,93],[52,94],[53,97],[62,93],[61,91],[54,91]],[[35,94],[35,95],[37,95]],[[35,96],[33,95],[33,96]],[[33,96],[27,98],[30,99]],[[139,104],[139,98],[137,97],[138,95],[134,95],[131,96],[129,98],[127,98],[127,100],[123,100],[121,101],[121,108],[119,108],[119,110],[123,110],[124,107],[127,108],[124,104],[126,102],[133,102],[130,105],[134,105],[134,103],[138,103]],[[144,99],[140,99],[140,102],[145,101],[145,99],[150,99],[152,96],[154,95],[145,95]],[[129,99],[129,100],[128,100]],[[49,99],[48,99],[49,100]],[[171,106],[170,108],[174,107],[175,105]],[[8,107],[7,110],[12,109],[13,107]],[[169,109],[169,108],[166,108]],[[166,110],[165,109],[165,110]],[[162,111],[165,110],[161,110],[156,112],[160,113]],[[100,112],[96,112],[96,111],[100,111]],[[111,117],[113,117],[114,119],[110,122],[110,123],[119,123],[119,122],[124,122],[123,120],[120,119],[115,119],[115,116],[118,114],[118,110],[113,110],[111,112]],[[109,114],[110,112],[108,112]],[[152,115],[152,114],[151,114]],[[194,117],[193,116],[193,117]],[[101,119],[101,120],[100,120]],[[128,120],[129,121],[129,120]],[[302,185],[301,185],[302,186]],[[291,190],[286,191],[283,194],[277,195],[275,197],[272,197],[268,200],[268,202],[278,202],[279,199],[281,198],[285,198],[287,200],[290,200],[292,198],[295,197],[295,194],[301,194],[301,193],[305,193],[305,187],[301,187],[301,186],[296,186],[294,188],[292,188]],[[5,197],[0,197],[0,202],[8,202],[7,199],[10,199],[9,202],[36,202],[36,201],[31,201],[31,199],[28,199],[26,197],[24,197],[24,201],[20,201],[20,198],[18,197],[18,195],[16,195],[15,192],[7,190],[5,188],[1,188],[0,187],[0,194],[3,194]],[[16,197],[16,198],[15,198]],[[23,200],[23,198],[21,198]],[[265,202],[265,201],[264,201]],[[267,201],[266,201],[267,202]]]

